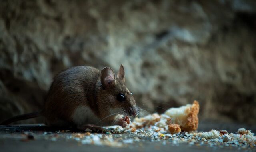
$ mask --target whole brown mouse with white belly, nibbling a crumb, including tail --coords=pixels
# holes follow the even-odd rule
[[[14,116],[1,125],[43,116],[47,126],[79,130],[102,126],[127,127],[123,116],[137,116],[133,94],[124,84],[124,66],[117,74],[110,67],[98,70],[92,66],[74,66],[58,73],[48,90],[40,112]]]

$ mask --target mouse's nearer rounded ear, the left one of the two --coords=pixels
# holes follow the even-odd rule
[[[101,70],[100,82],[104,88],[108,88],[115,84],[115,73],[110,67],[105,67]]]

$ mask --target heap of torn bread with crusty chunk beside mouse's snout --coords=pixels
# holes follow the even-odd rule
[[[150,126],[162,128],[164,131],[174,134],[180,131],[194,131],[198,128],[199,103],[187,104],[179,108],[170,108],[162,115],[154,113],[143,118],[135,118],[130,128],[144,128]]]

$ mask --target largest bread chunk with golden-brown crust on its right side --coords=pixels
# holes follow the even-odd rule
[[[198,128],[199,103],[187,104],[178,108],[170,108],[165,114],[170,116],[172,124],[180,125],[182,131],[190,132]]]

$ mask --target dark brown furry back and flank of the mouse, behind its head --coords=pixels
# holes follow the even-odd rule
[[[68,120],[77,106],[88,105],[86,98],[95,88],[100,71],[90,66],[76,66],[60,72],[48,92],[42,115],[48,124],[56,120]]]

